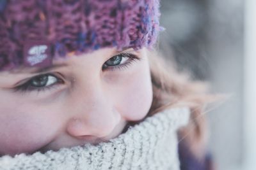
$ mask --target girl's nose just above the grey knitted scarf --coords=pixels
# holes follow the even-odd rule
[[[90,86],[90,88],[86,88]],[[82,88],[83,87],[83,88]],[[74,138],[85,136],[104,138],[109,136],[121,120],[114,104],[108,99],[99,83],[81,85],[72,96],[72,116],[68,120],[67,132]]]

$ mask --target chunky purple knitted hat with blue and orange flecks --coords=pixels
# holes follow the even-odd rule
[[[0,71],[115,46],[152,48],[159,0],[0,0]]]

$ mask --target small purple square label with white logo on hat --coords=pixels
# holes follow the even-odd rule
[[[28,41],[24,46],[27,66],[49,66],[52,62],[50,46],[44,41]]]

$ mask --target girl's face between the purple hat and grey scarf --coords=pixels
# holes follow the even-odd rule
[[[104,48],[52,66],[0,72],[0,155],[108,141],[150,109],[145,48]]]

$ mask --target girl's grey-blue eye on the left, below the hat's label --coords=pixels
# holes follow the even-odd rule
[[[40,91],[49,89],[58,83],[63,83],[63,80],[52,74],[42,74],[31,78],[29,81],[27,81],[23,85],[20,85],[19,87],[15,87],[15,91]]]

